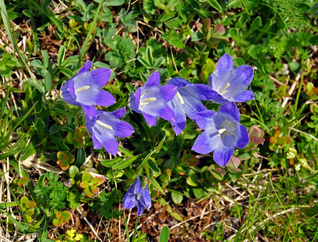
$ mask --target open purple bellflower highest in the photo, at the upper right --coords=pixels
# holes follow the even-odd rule
[[[218,92],[211,101],[218,104],[245,102],[254,99],[254,93],[245,88],[252,82],[254,69],[241,65],[233,69],[232,57],[225,53],[210,75],[210,87]]]

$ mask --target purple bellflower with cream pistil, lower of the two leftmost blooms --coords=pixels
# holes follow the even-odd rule
[[[128,137],[135,132],[130,124],[119,119],[125,112],[126,109],[121,108],[113,112],[96,110],[92,118],[85,115],[85,126],[92,134],[95,149],[104,146],[109,153],[116,155],[118,146],[115,137]]]

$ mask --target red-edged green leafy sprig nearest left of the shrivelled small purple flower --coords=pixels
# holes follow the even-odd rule
[[[98,192],[98,186],[103,184],[105,181],[104,177],[95,177],[91,180],[91,174],[89,172],[84,172],[82,174],[81,181],[78,181],[78,186],[84,189],[86,196],[93,197]]]

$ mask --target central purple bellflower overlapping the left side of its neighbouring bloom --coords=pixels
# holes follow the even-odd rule
[[[168,121],[174,121],[175,115],[166,104],[175,95],[177,88],[173,85],[159,87],[160,74],[153,73],[144,86],[130,96],[128,106],[137,113],[143,115],[149,126],[156,124],[156,117],[162,117]]]

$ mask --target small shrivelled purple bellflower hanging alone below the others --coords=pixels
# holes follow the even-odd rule
[[[144,208],[147,210],[151,207],[151,198],[147,182],[145,188],[142,188],[140,176],[137,176],[133,185],[127,190],[124,196],[122,207],[131,209],[137,207],[137,215],[141,216]]]

